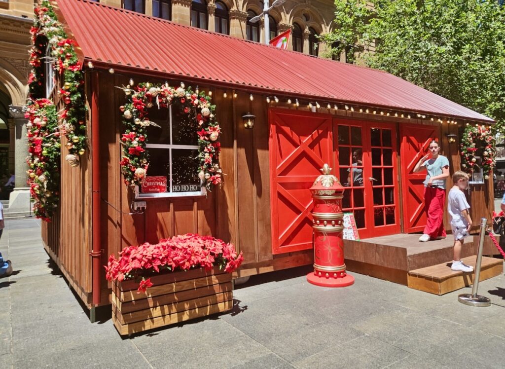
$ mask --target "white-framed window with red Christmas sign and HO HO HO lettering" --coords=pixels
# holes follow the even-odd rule
[[[161,126],[149,126],[149,168],[139,197],[201,195],[198,178],[198,124],[192,114],[184,113],[179,103],[169,108],[149,109],[149,120]],[[149,183],[157,189],[151,192]],[[160,185],[165,191],[160,190]]]

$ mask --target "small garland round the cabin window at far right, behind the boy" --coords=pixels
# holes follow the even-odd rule
[[[473,173],[477,167],[476,156],[482,158],[482,172],[489,179],[495,166],[495,147],[491,130],[485,126],[467,125],[461,139],[461,167],[467,173]]]

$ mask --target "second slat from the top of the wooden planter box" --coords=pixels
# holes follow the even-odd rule
[[[231,291],[232,288],[230,283],[221,283],[218,285],[196,288],[194,290],[180,291],[173,294],[148,297],[141,300],[133,300],[128,302],[121,302],[121,300],[118,297],[116,297],[115,294],[113,294],[112,303],[116,305],[116,307],[123,313],[128,313],[132,311],[154,308],[160,305],[172,304],[178,301],[186,301],[192,298],[210,296],[222,292],[231,292]]]

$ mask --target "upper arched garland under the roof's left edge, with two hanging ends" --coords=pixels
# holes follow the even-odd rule
[[[46,46],[49,45],[49,55],[45,58],[52,60],[52,65],[64,82],[63,88],[59,90],[64,108],[59,113],[60,128],[55,129],[61,129],[67,137],[67,149],[70,154],[66,160],[71,166],[77,166],[78,156],[84,154],[87,146],[82,66],[74,49],[75,41],[67,38],[49,2],[43,0],[34,11],[34,25],[30,30],[32,35],[29,61],[32,71],[28,75],[30,97],[34,99],[43,96],[45,63],[42,58]]]

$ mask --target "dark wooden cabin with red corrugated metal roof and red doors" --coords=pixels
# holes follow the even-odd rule
[[[452,173],[460,167],[459,143],[449,144],[446,135],[460,134],[466,123],[493,122],[382,71],[85,0],[52,4],[83,60],[88,139],[90,147],[97,140],[99,150],[88,150],[81,165],[72,168],[63,160],[62,143],[59,214],[43,223],[42,237],[49,255],[89,307],[109,303],[103,265],[110,254],[177,234],[232,242],[244,255],[236,276],[311,264],[308,189],[324,163],[346,187],[344,210],[354,212],[361,239],[420,232],[425,224],[425,174],[412,169],[429,141],[441,143]],[[221,188],[207,195],[139,195],[137,200],[146,202],[144,213],[129,214],[135,194],[120,172],[124,127],[119,107],[125,96],[116,86],[128,84],[130,78],[184,82],[212,91],[222,129],[220,160],[226,175]],[[253,129],[244,128],[245,112],[256,116]],[[158,113],[153,114],[156,121]],[[160,117],[163,122],[158,124],[168,124],[166,113]],[[356,155],[362,160],[361,182],[349,180]],[[97,158],[99,165],[92,165]],[[156,160],[150,165],[153,173],[162,170]],[[94,171],[99,172],[100,200],[93,208]],[[472,186],[474,219],[490,216],[492,191],[491,181]],[[93,210],[98,209],[100,220],[93,222]],[[99,252],[90,255],[96,233]],[[92,279],[92,259],[99,261],[99,281]],[[92,300],[93,293],[98,300]]]

